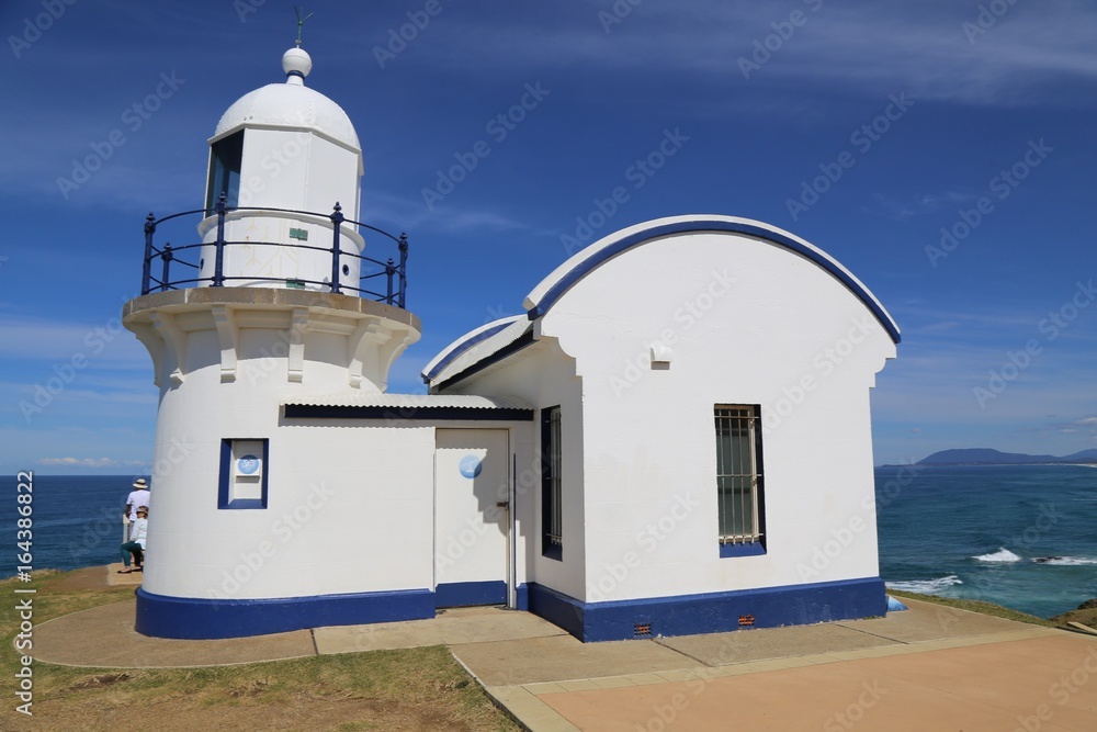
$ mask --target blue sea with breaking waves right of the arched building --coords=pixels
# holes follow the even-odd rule
[[[1041,618],[1097,597],[1097,469],[878,468],[889,586]]]

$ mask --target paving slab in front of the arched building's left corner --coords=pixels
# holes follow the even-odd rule
[[[692,668],[697,661],[647,640],[581,643],[569,634],[450,649],[485,686],[565,682]]]

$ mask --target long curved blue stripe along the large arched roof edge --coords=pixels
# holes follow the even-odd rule
[[[642,232],[636,232],[635,234],[630,234],[619,241],[614,241],[613,244],[599,249],[598,251],[591,254],[590,257],[579,262],[574,269],[572,269],[570,272],[562,277],[559,281],[557,281],[556,284],[550,288],[548,292],[544,294],[541,302],[539,302],[536,306],[530,308],[527,315],[531,320],[542,317],[552,308],[553,305],[556,304],[556,301],[559,300],[573,284],[601,266],[607,259],[621,254],[625,249],[630,249],[637,244],[643,244],[644,241],[660,236],[686,234],[689,232],[732,232],[735,234],[747,234],[749,236],[756,236],[760,239],[766,239],[767,241],[772,241],[773,244],[780,245],[785,249],[791,249],[799,255],[803,255],[833,274],[839,282],[845,284],[850,292],[857,295],[857,297],[864,303],[864,306],[872,312],[872,315],[874,315],[877,320],[880,322],[880,325],[884,327],[884,330],[887,331],[887,335],[891,336],[892,340],[896,344],[900,342],[902,337],[900,336],[898,328],[892,320],[891,316],[877,304],[872,295],[870,295],[860,283],[850,278],[849,274],[840,268],[836,267],[835,261],[829,257],[823,256],[821,252],[812,249],[811,247],[805,247],[795,239],[761,226],[711,218],[698,218],[695,221],[676,222],[674,224],[654,226]]]

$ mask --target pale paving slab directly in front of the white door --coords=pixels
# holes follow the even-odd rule
[[[319,653],[454,645],[563,634],[566,631],[534,615],[495,607],[454,608],[426,620],[339,626],[317,628],[314,631]]]

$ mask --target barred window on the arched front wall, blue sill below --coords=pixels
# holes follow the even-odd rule
[[[717,404],[714,413],[721,555],[761,553],[735,551],[764,549],[761,409]]]

